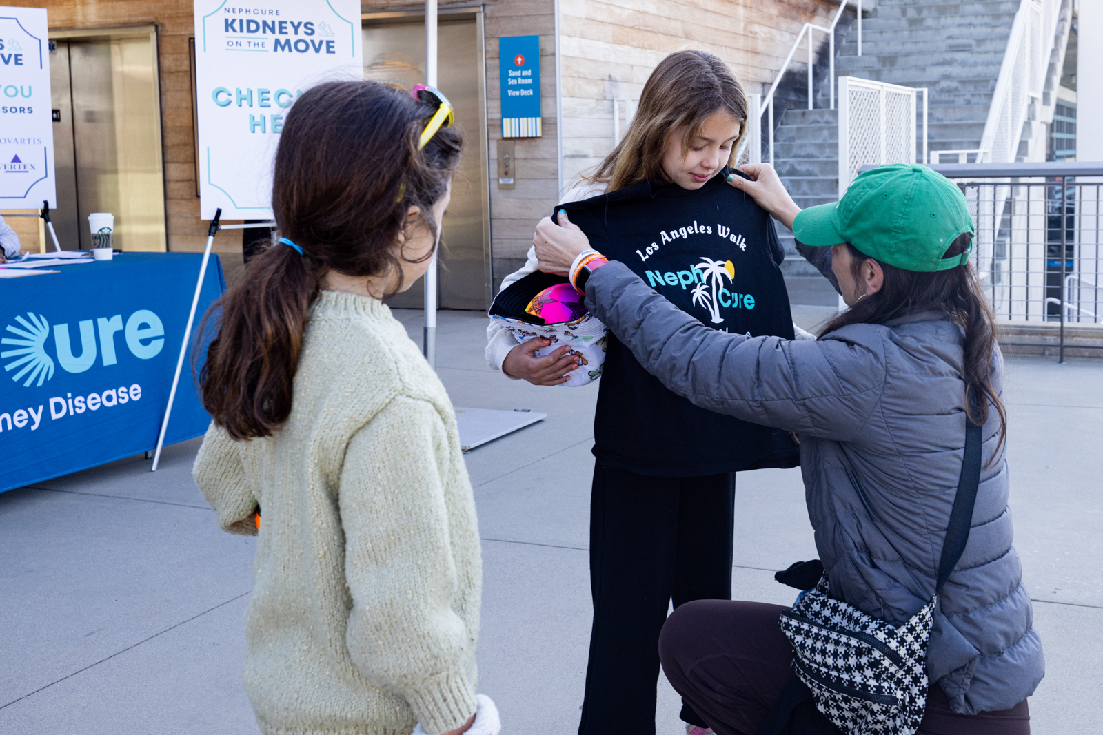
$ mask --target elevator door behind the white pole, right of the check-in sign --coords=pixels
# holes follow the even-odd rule
[[[425,82],[425,22],[364,26],[364,77],[411,88]],[[442,309],[486,309],[490,239],[486,203],[486,123],[483,115],[481,34],[474,19],[441,21],[437,31],[437,86],[456,108],[463,158],[452,179],[440,250]],[[393,296],[392,306],[424,305],[425,280]]]

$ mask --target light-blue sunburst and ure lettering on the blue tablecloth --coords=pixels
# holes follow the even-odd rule
[[[81,345],[78,350],[74,349],[76,342]],[[55,357],[56,367],[66,372],[84,372],[97,359],[104,367],[116,365],[116,350],[122,345],[138,359],[157,357],[164,347],[164,325],[153,312],[139,309],[126,322],[122,314],[82,320],[71,332],[69,324],[54,324],[51,328],[45,316],[28,312],[25,317],[17,316],[15,324],[7,326],[0,345],[4,347],[0,359],[10,360],[3,366],[7,375],[24,388],[32,383],[41,388],[54,377]]]

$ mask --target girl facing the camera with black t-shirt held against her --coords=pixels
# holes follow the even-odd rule
[[[623,140],[564,206],[600,242],[592,247],[708,326],[793,338],[773,223],[717,175],[733,164],[746,119],[724,62],[672,54],[644,85]],[[536,262],[529,250],[502,289]],[[556,386],[577,367],[566,346],[536,357],[548,342],[518,345],[499,320],[488,337],[488,363],[512,378]],[[593,628],[579,733],[653,733],[657,641],[672,599],[731,598],[735,473],[795,466],[796,446],[674,394],[611,333],[593,433]],[[688,705],[682,718],[690,735],[709,732]]]

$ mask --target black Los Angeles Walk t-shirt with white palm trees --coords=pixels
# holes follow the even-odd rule
[[[728,185],[643,183],[563,204],[590,246],[632,269],[682,311],[717,329],[793,338],[782,250],[770,216]],[[593,420],[593,455],[641,475],[695,477],[793,467],[785,432],[697,408],[643,369],[612,333]]]

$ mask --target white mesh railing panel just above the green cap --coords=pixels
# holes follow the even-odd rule
[[[927,153],[927,87],[902,87],[857,77],[838,78],[838,195],[865,165],[915,163],[919,93],[923,93],[923,158]]]

